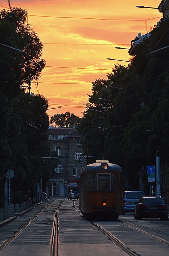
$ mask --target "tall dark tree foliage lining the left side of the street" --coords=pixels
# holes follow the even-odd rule
[[[32,97],[22,89],[23,84],[29,85],[30,80],[40,77],[45,66],[41,58],[43,43],[26,24],[27,11],[13,8],[12,12],[0,12],[0,207],[4,207],[7,170],[15,173],[11,179],[11,202],[19,203],[24,200],[23,194],[32,196],[40,178],[45,188],[58,163],[42,158],[45,154],[56,155],[50,152],[48,140],[48,100],[40,94]]]

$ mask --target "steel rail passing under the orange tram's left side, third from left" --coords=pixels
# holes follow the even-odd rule
[[[73,207],[82,215],[81,211],[75,206],[74,202],[75,202],[75,200],[73,200]],[[128,255],[130,255],[130,256],[138,256],[139,255],[139,254],[134,253],[133,251],[131,251],[128,247],[125,246],[125,244],[120,239],[115,237],[111,232],[107,231],[102,226],[96,224],[94,221],[89,220],[89,222],[93,226],[98,228],[104,235],[106,235],[112,242],[114,242],[117,246],[119,246],[123,251],[128,253]]]

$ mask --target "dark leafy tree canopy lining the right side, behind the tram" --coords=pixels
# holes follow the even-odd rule
[[[155,26],[150,38],[136,47],[128,67],[115,65],[107,79],[92,83],[77,128],[83,137],[97,134],[109,138],[105,140],[105,159],[122,166],[127,189],[138,189],[138,170],[155,164],[157,151],[162,161],[168,162],[168,48],[150,54],[169,44],[168,29],[168,21]],[[102,159],[99,140],[90,141],[88,145],[84,142],[85,154],[88,148]]]

